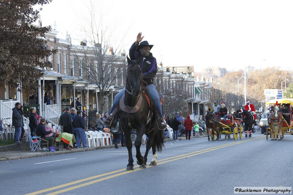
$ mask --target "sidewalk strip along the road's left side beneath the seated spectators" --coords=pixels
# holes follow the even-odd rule
[[[207,135],[205,134],[200,137],[207,137]],[[191,137],[191,139],[194,139],[194,138],[195,137]],[[185,137],[178,137],[178,140],[185,140],[185,139],[186,139]],[[165,139],[164,141],[173,141],[173,138]],[[134,142],[132,144],[134,144]],[[119,145],[121,146],[121,144]],[[99,149],[106,149],[106,148],[114,148],[114,144],[109,146],[98,146],[98,147],[91,147],[91,148],[81,148],[81,149],[74,148],[74,150],[63,149],[63,150],[59,150],[55,152],[43,152],[43,151],[31,152],[30,150],[4,151],[4,152],[0,152],[0,161],[9,161],[9,160],[15,160],[15,159],[21,159],[21,158],[31,158],[36,156],[50,156],[50,155],[56,155],[56,154],[84,152],[84,151],[99,150]]]

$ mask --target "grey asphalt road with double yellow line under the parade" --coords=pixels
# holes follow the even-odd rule
[[[125,171],[126,147],[3,161],[0,194],[234,194],[234,187],[293,186],[291,135],[270,141],[257,132],[165,146],[157,166],[134,171]]]

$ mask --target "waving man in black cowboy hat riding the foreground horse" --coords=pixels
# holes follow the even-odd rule
[[[141,57],[143,58],[142,63],[140,64],[140,68],[142,69],[142,78],[145,82],[144,85],[146,85],[147,83],[149,94],[152,101],[154,102],[154,106],[156,108],[154,113],[157,119],[158,127],[159,129],[165,129],[167,126],[163,121],[161,100],[156,90],[156,87],[153,84],[154,77],[156,76],[156,73],[158,71],[156,58],[154,58],[153,54],[150,53],[150,50],[154,45],[149,45],[147,41],[141,42],[143,38],[144,37],[142,37],[142,33],[138,33],[136,41],[129,49],[129,56],[131,60],[138,60]],[[117,122],[115,121],[116,119],[113,121],[113,118],[118,113],[117,105],[124,93],[125,87],[117,95],[115,95],[113,106],[110,110],[110,115],[104,121],[105,125],[109,127],[115,127]]]

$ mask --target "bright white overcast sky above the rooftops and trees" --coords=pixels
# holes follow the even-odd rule
[[[59,30],[58,37],[80,37],[89,0],[53,0],[43,6],[42,24]],[[116,1],[100,0],[97,15],[122,50],[138,32],[145,36],[157,61],[164,66],[206,66],[239,70],[280,66],[292,70],[293,1]],[[264,61],[265,60],[265,61]]]

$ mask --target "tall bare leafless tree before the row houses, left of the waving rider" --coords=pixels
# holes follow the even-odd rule
[[[71,44],[71,55],[78,60],[79,79],[96,84],[100,91],[100,110],[104,111],[104,96],[109,89],[120,83],[124,86],[127,64],[125,51],[121,52],[121,43],[114,41],[116,29],[103,26],[103,17],[96,17],[95,6],[91,2],[89,16],[83,27],[85,38],[79,46]],[[125,33],[126,34],[126,33]],[[123,36],[123,38],[125,35]]]

